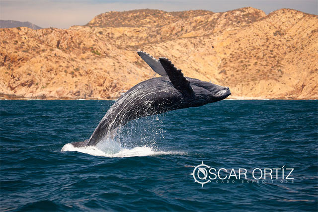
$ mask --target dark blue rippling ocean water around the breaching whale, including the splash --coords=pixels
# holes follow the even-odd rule
[[[113,103],[0,101],[0,211],[318,210],[318,101],[224,100],[132,121],[97,147],[68,144]],[[208,181],[210,168],[247,177]],[[257,181],[257,168],[277,180]]]

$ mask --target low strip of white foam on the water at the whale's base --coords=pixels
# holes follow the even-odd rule
[[[61,151],[78,151],[85,154],[103,157],[142,157],[162,154],[184,154],[184,152],[179,151],[157,151],[149,146],[137,146],[132,149],[121,148],[116,153],[105,153],[96,146],[74,147],[71,143],[65,144]]]

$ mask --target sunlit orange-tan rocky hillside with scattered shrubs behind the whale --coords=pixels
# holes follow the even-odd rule
[[[106,12],[69,29],[0,29],[0,98],[115,99],[169,58],[236,99],[318,99],[318,16],[252,8]]]

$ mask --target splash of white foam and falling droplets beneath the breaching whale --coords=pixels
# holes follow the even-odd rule
[[[149,116],[133,120],[108,133],[96,146],[74,147],[71,143],[63,146],[61,151],[78,151],[95,156],[133,157],[158,154],[183,154],[184,152],[162,151],[156,145],[164,139],[165,132],[160,125],[162,118]],[[112,135],[112,138],[109,137]]]

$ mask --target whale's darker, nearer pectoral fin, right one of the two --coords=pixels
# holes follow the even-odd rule
[[[181,70],[176,69],[171,61],[166,58],[159,58],[159,61],[165,72],[167,72],[167,75],[173,86],[180,93],[182,93],[182,95],[188,98],[194,98],[194,91],[190,85],[190,82],[183,76]]]

